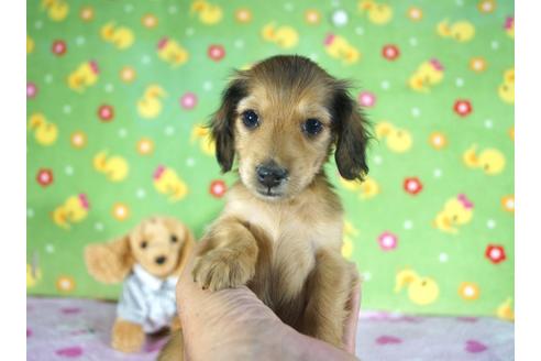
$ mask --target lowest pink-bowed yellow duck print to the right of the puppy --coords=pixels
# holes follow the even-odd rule
[[[473,217],[473,203],[464,194],[448,199],[438,212],[433,226],[445,233],[459,233],[459,227],[468,223]]]

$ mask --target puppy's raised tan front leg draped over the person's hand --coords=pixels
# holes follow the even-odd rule
[[[211,291],[245,285],[255,274],[257,254],[249,226],[234,217],[222,218],[202,240],[194,281]]]

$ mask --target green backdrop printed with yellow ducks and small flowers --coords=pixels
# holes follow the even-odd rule
[[[201,125],[287,53],[374,123],[364,184],[328,167],[363,307],[512,318],[512,1],[33,0],[26,29],[29,294],[115,297],[82,249],[145,216],[201,236],[234,182]]]

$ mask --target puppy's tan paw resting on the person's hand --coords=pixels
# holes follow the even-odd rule
[[[220,291],[245,285],[255,274],[255,260],[227,249],[216,249],[195,261],[194,282],[202,288]]]

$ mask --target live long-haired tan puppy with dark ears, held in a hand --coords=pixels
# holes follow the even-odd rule
[[[247,285],[284,322],[343,348],[358,277],[341,255],[343,210],[323,166],[334,151],[342,177],[368,171],[367,123],[347,84],[301,56],[267,58],[235,74],[211,131],[222,171],[236,158],[240,180],[198,245],[194,281]],[[181,359],[180,339],[162,360]]]

